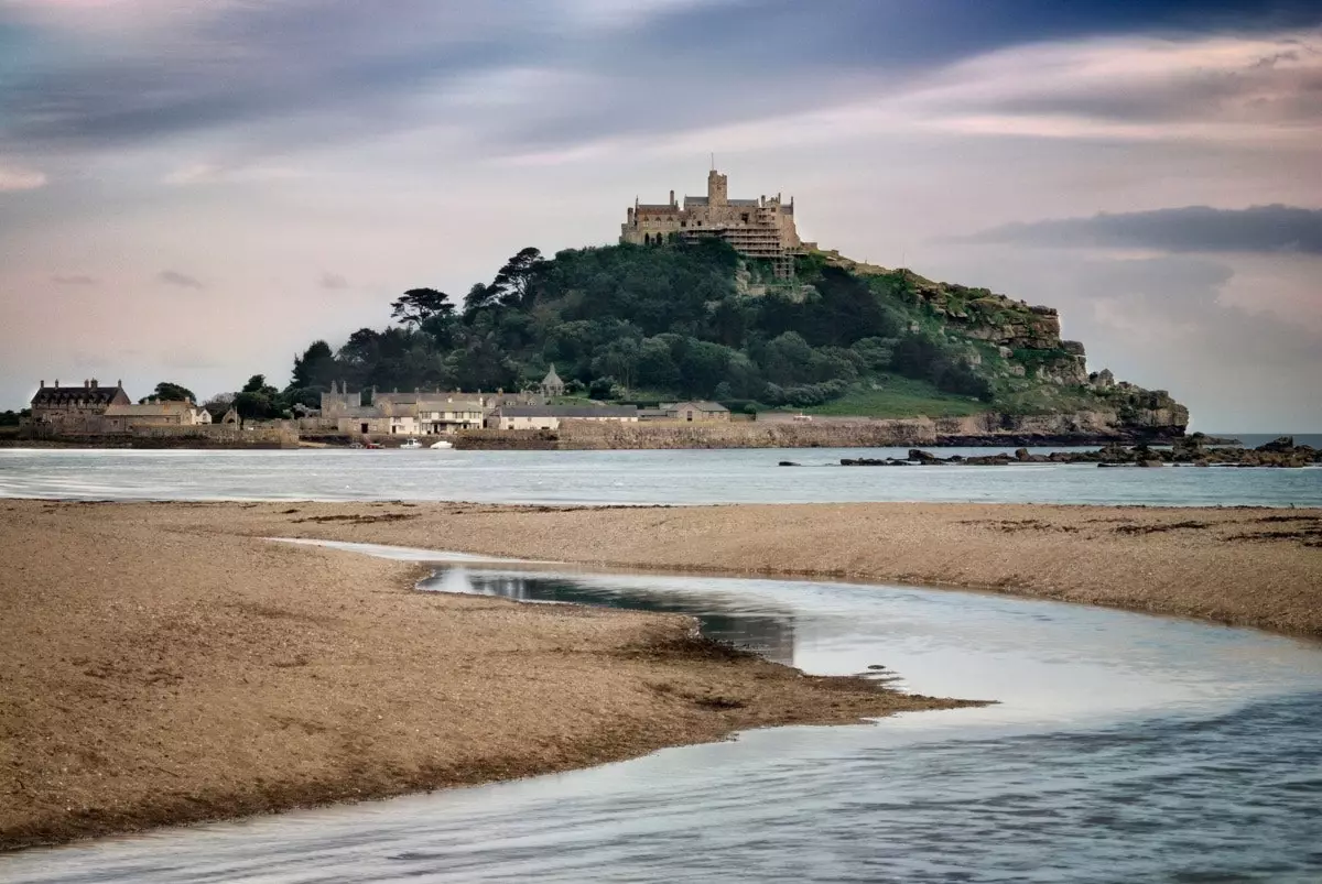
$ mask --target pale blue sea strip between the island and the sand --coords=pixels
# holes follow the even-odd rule
[[[943,455],[1001,449],[932,449]],[[1048,449],[1036,449],[1048,451]],[[839,466],[902,448],[434,452],[0,449],[0,497],[501,503],[977,501],[1322,506],[1322,469]],[[776,464],[792,460],[802,468]]]

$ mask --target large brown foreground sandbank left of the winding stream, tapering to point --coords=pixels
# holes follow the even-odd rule
[[[280,509],[0,502],[0,850],[957,706],[245,535]]]

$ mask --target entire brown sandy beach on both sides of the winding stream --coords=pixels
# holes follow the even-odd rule
[[[266,538],[989,589],[1322,636],[1322,510],[5,501],[0,844],[616,761],[954,702],[674,616],[424,593]]]

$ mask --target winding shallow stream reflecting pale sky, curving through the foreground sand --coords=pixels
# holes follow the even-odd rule
[[[406,554],[407,555],[407,554]],[[1322,646],[992,595],[449,564],[440,591],[685,610],[816,673],[999,704],[0,858],[48,881],[1322,880]]]

